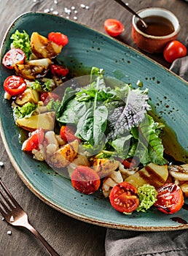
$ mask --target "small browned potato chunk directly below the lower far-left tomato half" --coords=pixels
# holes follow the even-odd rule
[[[17,95],[15,103],[17,105],[24,105],[27,102],[34,102],[37,104],[39,102],[39,93],[32,89],[26,89],[23,94]]]

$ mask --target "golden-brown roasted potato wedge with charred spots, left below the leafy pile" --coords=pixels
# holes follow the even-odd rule
[[[51,167],[62,168],[66,167],[77,157],[79,142],[74,140],[71,143],[60,147],[53,154],[47,155],[47,163]]]

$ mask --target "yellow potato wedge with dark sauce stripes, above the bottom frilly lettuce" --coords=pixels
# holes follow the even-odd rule
[[[144,184],[150,184],[155,187],[155,189],[161,187],[165,184],[168,178],[168,165],[155,165],[150,163],[146,165],[138,172],[125,178],[130,184],[135,187],[141,187]]]

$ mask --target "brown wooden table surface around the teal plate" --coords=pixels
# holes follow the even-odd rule
[[[171,10],[179,18],[181,24],[179,40],[185,42],[185,38],[188,36],[187,2],[183,0],[130,0],[128,3],[136,11],[145,7],[165,7]],[[89,9],[80,7],[80,4],[85,4]],[[74,19],[74,16],[77,16],[77,22],[86,24],[103,33],[105,33],[103,29],[104,20],[107,18],[121,20],[125,25],[125,31],[118,39],[136,48],[131,38],[132,15],[128,11],[122,10],[122,7],[112,0],[0,0],[0,42],[12,21],[23,12],[46,12],[49,10],[50,13],[54,12],[66,18],[68,15],[64,8],[69,9],[72,6],[78,12],[77,15],[71,13],[69,15],[70,19]],[[147,55],[165,67],[169,67],[162,55]],[[1,140],[0,143],[0,161],[4,163],[4,167],[0,167],[0,177],[27,211],[31,224],[39,230],[55,250],[60,255],[66,256],[105,255],[106,228],[72,219],[39,200],[17,176]],[[1,219],[0,230],[1,256],[48,255],[43,246],[39,244],[39,241],[28,231],[7,225],[7,222]],[[12,232],[11,236],[7,234],[9,230]]]

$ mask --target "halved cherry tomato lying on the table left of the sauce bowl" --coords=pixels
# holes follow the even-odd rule
[[[120,20],[108,19],[104,22],[104,29],[111,37],[117,37],[124,31],[124,26]]]

